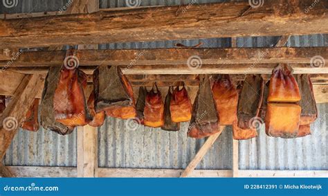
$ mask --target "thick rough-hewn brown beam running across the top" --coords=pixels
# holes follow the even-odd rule
[[[328,2],[305,13],[311,3],[265,1],[256,9],[248,2],[194,4],[179,16],[179,6],[167,6],[7,19],[0,21],[0,48],[328,33]]]

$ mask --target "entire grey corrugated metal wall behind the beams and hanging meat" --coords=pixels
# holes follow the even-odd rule
[[[14,8],[0,6],[0,13],[44,12],[60,10],[69,0],[19,1]],[[137,0],[138,1],[138,0]],[[126,6],[125,0],[100,0],[100,8]],[[142,0],[140,6],[179,5],[181,1]],[[192,0],[185,0],[190,3]],[[197,3],[221,1],[202,0]],[[271,47],[279,37],[242,37],[238,47]],[[172,48],[176,43],[201,47],[230,47],[230,39],[193,39],[165,42],[132,42],[101,44],[101,49]],[[328,46],[328,35],[292,36],[287,46]],[[328,169],[327,114],[328,105],[320,104],[319,119],[312,125],[313,134],[302,139],[274,139],[259,131],[257,139],[239,143],[241,169]],[[129,131],[125,121],[107,118],[99,128],[99,166],[120,168],[185,168],[204,140],[186,137],[187,123],[181,132],[165,132],[140,127]],[[229,169],[232,164],[231,128],[219,137],[203,159],[201,169]],[[18,166],[76,166],[76,132],[60,136],[40,130],[37,133],[20,130],[7,152],[6,165]]]

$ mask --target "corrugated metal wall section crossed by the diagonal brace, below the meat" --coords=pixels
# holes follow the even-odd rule
[[[137,129],[131,129],[136,127]],[[187,137],[188,123],[180,132],[166,132],[115,118],[107,118],[98,135],[99,166],[109,168],[185,168],[205,139]],[[223,132],[201,161],[200,169],[232,168],[232,132]]]

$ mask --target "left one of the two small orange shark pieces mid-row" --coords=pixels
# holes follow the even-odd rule
[[[155,90],[156,88],[156,90]],[[164,104],[161,91],[158,91],[156,83],[146,96],[144,124],[148,127],[162,127],[164,125]]]

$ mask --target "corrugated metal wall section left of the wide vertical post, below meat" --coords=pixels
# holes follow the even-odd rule
[[[9,166],[76,166],[77,132],[61,136],[40,128],[19,130],[5,157]]]

